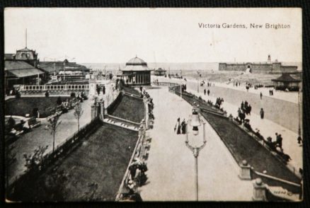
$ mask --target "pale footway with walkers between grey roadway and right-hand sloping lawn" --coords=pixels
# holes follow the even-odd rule
[[[217,98],[215,98],[214,96],[205,96],[203,93],[197,93],[197,91],[193,90],[188,91],[190,93],[194,93],[196,96],[201,96],[205,100],[212,100],[213,103],[216,102]],[[222,104],[222,108],[227,111],[228,115],[231,114],[236,117],[238,115],[237,110],[240,107],[224,101],[224,103]],[[299,144],[297,144],[297,133],[292,132],[285,127],[282,127],[281,125],[278,125],[271,120],[261,120],[260,115],[253,112],[251,112],[251,115],[246,115],[246,118],[250,120],[252,129],[259,129],[260,134],[262,134],[265,138],[272,137],[272,141],[275,141],[275,132],[277,132],[278,134],[282,134],[282,148],[284,149],[285,154],[289,154],[289,156],[292,158],[292,161],[289,161],[289,164],[294,166],[297,171],[299,170],[299,168],[303,167],[302,146],[299,146]]]

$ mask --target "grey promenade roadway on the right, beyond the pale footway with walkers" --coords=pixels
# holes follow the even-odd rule
[[[154,79],[159,79],[159,81],[171,81],[180,83],[180,79],[167,79],[164,77],[154,77]],[[197,93],[197,81],[183,81],[186,84],[188,90],[193,90]],[[219,85],[219,86],[217,86]],[[246,91],[238,90],[233,88],[232,86],[224,87],[226,84],[224,83],[215,83],[215,86],[206,87],[200,86],[200,93],[203,90],[209,89],[210,96],[213,97],[221,97],[228,103],[233,103],[234,105],[240,105],[241,101],[247,100],[248,103],[252,106],[252,112],[259,115],[260,108],[263,108],[265,111],[265,118],[285,127],[286,129],[291,130],[292,132],[297,133],[299,127],[299,106],[298,106],[298,98],[296,102],[291,102],[286,100],[289,96],[285,96],[285,92],[281,92],[283,96],[280,98],[274,98],[272,96],[263,95],[263,99],[260,99],[259,94],[252,93],[251,91],[256,91],[251,89],[249,93]],[[240,89],[240,88],[239,88]],[[280,92],[276,92],[280,93]],[[275,93],[275,94],[276,94]],[[297,93],[295,93],[296,97]],[[237,108],[238,110],[238,108]],[[302,111],[301,111],[302,112]]]

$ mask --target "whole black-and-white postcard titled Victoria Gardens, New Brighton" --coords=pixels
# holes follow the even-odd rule
[[[301,8],[6,8],[6,202],[303,200]]]

